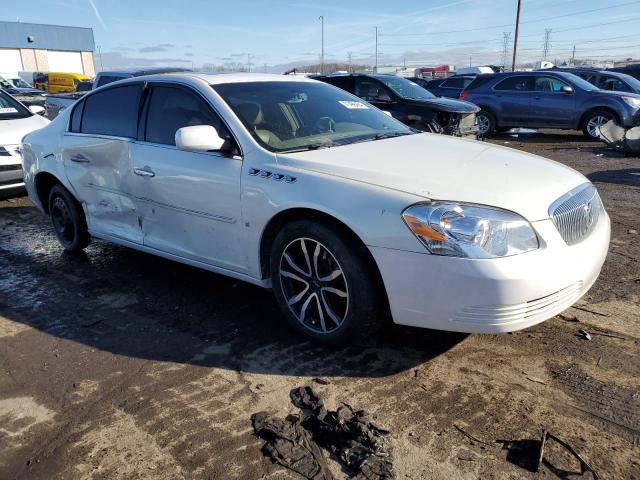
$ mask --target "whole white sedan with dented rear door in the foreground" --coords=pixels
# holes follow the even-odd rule
[[[393,321],[509,332],[578,300],[610,222],[559,163],[415,133],[310,79],[169,74],[88,93],[22,144],[62,246],[90,237],[272,288],[321,343]]]

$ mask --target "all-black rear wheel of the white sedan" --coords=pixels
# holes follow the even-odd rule
[[[80,252],[91,237],[82,207],[62,185],[49,192],[49,218],[58,241],[67,252]]]

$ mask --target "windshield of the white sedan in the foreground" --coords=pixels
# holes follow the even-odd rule
[[[251,135],[273,152],[347,145],[413,133],[344,90],[321,82],[212,85]]]

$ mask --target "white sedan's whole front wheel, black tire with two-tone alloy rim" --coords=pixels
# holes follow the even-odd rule
[[[366,253],[323,222],[299,220],[280,231],[271,249],[272,288],[296,332],[325,346],[375,334],[386,297]]]

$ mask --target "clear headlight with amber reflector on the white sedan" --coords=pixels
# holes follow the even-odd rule
[[[435,255],[508,257],[539,247],[533,227],[499,208],[452,202],[420,203],[402,212],[418,239]]]

